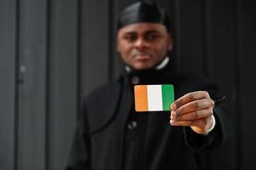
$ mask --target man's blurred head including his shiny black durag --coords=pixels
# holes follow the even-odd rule
[[[121,14],[117,51],[137,71],[155,67],[173,48],[168,15],[156,3],[134,3]]]

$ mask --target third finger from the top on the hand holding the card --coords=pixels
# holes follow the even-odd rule
[[[199,111],[192,111],[190,113],[187,113],[182,116],[172,116],[173,120],[176,122],[179,121],[193,121],[197,119],[202,119],[202,118],[208,118],[213,115],[213,110],[212,109],[203,109]]]

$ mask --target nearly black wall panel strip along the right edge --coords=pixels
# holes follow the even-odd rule
[[[241,145],[242,145],[242,168],[255,169],[254,155],[256,153],[256,133],[255,129],[255,44],[256,44],[256,4],[253,1],[237,2],[237,22],[238,22],[238,47],[240,77],[236,83],[241,87],[237,108],[240,107],[240,116],[236,124],[241,125]],[[237,69],[237,68],[236,68]],[[237,96],[237,97],[240,97]]]

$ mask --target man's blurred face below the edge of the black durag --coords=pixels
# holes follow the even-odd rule
[[[171,35],[162,24],[136,23],[122,27],[117,33],[117,51],[135,70],[159,64],[172,48]]]

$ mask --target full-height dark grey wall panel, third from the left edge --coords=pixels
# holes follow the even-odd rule
[[[64,169],[77,116],[78,1],[50,3],[48,170]],[[80,92],[79,92],[80,93]]]

